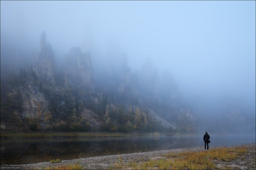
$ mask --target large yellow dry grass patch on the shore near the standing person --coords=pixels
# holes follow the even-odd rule
[[[215,169],[213,160],[229,161],[248,152],[244,146],[235,148],[218,148],[200,152],[169,153],[165,159],[149,160],[142,163],[129,163],[132,169]]]

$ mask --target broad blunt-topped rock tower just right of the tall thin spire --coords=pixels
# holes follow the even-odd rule
[[[72,84],[79,85],[90,91],[94,89],[91,53],[82,53],[80,47],[70,49],[64,70]]]

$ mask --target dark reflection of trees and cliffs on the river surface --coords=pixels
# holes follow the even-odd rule
[[[50,157],[63,160],[77,159],[79,153],[82,153],[82,157],[90,157],[148,152],[190,147],[195,142],[195,137],[135,137],[114,140],[38,139],[33,142],[5,140],[1,141],[1,147],[5,146],[5,150],[1,151],[1,162],[9,164],[34,163],[49,161]]]

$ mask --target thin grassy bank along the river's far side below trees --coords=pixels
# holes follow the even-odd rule
[[[1,132],[1,138],[51,138],[51,137],[129,137],[175,135],[156,132],[110,133],[110,132]]]

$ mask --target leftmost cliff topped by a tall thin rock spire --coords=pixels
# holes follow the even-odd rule
[[[39,118],[49,109],[49,100],[42,92],[42,81],[54,85],[54,54],[52,46],[46,43],[45,32],[41,35],[41,51],[34,68],[24,69],[23,82],[20,83],[20,96],[23,118]],[[47,83],[48,85],[48,83]]]

